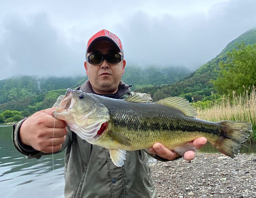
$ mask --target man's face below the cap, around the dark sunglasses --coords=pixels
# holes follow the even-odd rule
[[[87,57],[93,53],[109,54],[119,52],[114,43],[109,41],[99,41],[87,53]],[[111,64],[105,59],[99,64],[84,62],[86,74],[92,84],[93,91],[97,94],[114,94],[118,90],[118,85],[124,73],[125,60],[117,64]]]

